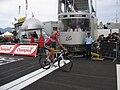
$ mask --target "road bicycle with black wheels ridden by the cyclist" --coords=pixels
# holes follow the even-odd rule
[[[43,49],[42,53],[39,54],[39,64],[43,69],[49,69],[50,67],[59,67],[62,71],[68,72],[73,67],[73,61],[69,57],[68,52],[64,50],[55,50],[55,58],[52,60],[51,58],[46,59],[49,50]],[[53,62],[54,61],[54,62]]]

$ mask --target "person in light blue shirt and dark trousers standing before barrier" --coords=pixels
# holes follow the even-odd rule
[[[85,38],[85,49],[86,49],[86,59],[91,59],[91,47],[94,42],[90,33],[87,33],[87,37]]]

